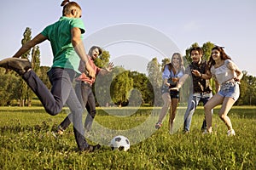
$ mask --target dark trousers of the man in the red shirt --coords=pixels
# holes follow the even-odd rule
[[[76,89],[76,94],[79,97],[79,100],[81,102],[81,105],[83,105],[83,107],[85,107],[86,110],[88,111],[88,114],[84,122],[84,128],[86,131],[90,131],[90,127],[92,125],[94,117],[96,116],[96,103],[95,103],[94,94],[92,93],[90,85],[84,82],[77,82],[75,89]],[[72,113],[70,113],[64,119],[64,121],[61,122],[60,126],[63,130],[65,130],[70,125],[71,122],[72,122]]]

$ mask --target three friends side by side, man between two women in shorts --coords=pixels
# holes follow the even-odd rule
[[[188,77],[192,78],[192,91],[188,99],[188,107],[184,114],[183,133],[189,133],[192,116],[199,102],[204,105],[205,118],[201,130],[203,133],[212,133],[213,108],[221,105],[218,116],[228,128],[228,136],[236,135],[228,113],[240,95],[239,84],[243,76],[241,70],[224,52],[224,48],[212,48],[208,61],[203,60],[203,50],[200,47],[191,48],[189,55],[191,64],[184,69],[181,54],[174,53],[171,63],[166,64],[162,77],[162,99],[164,105],[160,111],[155,128],[159,129],[166,113],[170,108],[169,129],[172,133],[173,122],[179,101],[179,89]],[[215,81],[216,94],[212,96],[209,80]]]

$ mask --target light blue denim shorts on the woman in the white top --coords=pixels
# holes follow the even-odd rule
[[[223,97],[233,98],[236,101],[240,95],[238,82],[225,82],[221,85],[218,94]]]

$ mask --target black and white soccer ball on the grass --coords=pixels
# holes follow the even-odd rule
[[[125,136],[119,135],[111,140],[110,147],[112,150],[127,151],[130,149],[130,141]]]

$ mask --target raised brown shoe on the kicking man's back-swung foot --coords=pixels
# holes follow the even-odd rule
[[[28,59],[8,58],[0,61],[0,67],[16,71],[20,76],[32,68]]]

